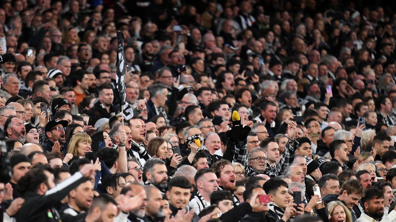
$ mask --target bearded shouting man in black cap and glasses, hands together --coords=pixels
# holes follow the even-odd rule
[[[67,120],[51,120],[47,123],[45,127],[45,133],[47,141],[42,144],[44,150],[51,152],[63,152],[64,155],[67,154],[67,147],[64,146],[66,143],[65,130],[69,122]],[[58,142],[59,145],[55,145]]]

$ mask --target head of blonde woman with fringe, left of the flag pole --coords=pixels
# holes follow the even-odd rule
[[[67,146],[67,152],[73,154],[73,156],[85,157],[87,152],[92,152],[91,144],[92,140],[88,134],[74,134],[70,139],[69,146]]]

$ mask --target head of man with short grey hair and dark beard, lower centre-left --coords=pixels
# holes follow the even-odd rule
[[[158,158],[150,158],[143,167],[143,175],[146,176],[145,184],[155,186],[165,194],[168,186],[168,169],[165,162]]]

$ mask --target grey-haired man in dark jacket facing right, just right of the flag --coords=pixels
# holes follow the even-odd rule
[[[171,73],[169,73],[169,75],[171,76]],[[147,102],[147,119],[160,115],[164,117],[166,125],[168,126],[169,119],[165,111],[165,103],[168,100],[168,89],[163,84],[156,84],[148,88],[148,91],[150,92],[150,100]]]

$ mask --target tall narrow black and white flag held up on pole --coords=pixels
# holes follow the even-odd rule
[[[117,71],[116,71],[116,83],[118,92],[120,94],[120,113],[124,116],[124,119],[129,120],[133,117],[133,110],[127,102],[125,102],[125,55],[124,55],[124,35],[121,31],[117,32],[118,40],[118,51],[117,51]]]

